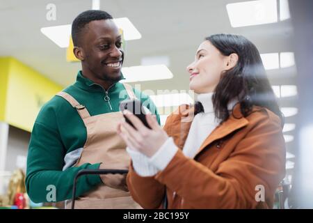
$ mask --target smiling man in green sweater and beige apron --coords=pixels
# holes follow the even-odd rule
[[[82,70],[73,85],[42,107],[31,134],[26,190],[34,202],[70,199],[81,169],[128,169],[126,144],[116,132],[120,101],[138,98],[157,114],[147,95],[119,82],[124,79],[122,36],[111,15],[102,10],[81,13],[72,24],[72,39]],[[75,208],[140,208],[125,178],[81,176]]]

